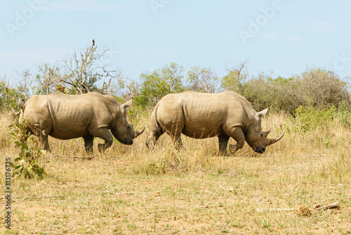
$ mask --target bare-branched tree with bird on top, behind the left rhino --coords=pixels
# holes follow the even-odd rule
[[[40,65],[37,75],[25,70],[20,74],[22,81],[18,89],[21,93],[29,90],[32,94],[49,94],[55,91],[67,94],[84,94],[90,91],[112,93],[112,80],[116,77],[114,73],[118,71],[107,70],[109,65],[103,63],[102,58],[107,51],[104,48],[99,53],[96,46],[90,46],[80,51],[74,50],[71,56],[55,65]]]

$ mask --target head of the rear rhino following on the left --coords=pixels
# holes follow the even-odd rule
[[[133,99],[127,101],[120,106],[119,115],[114,120],[114,127],[111,128],[111,133],[122,144],[133,144],[133,139],[140,136],[145,130],[145,127],[137,132],[133,129],[133,124],[129,124],[127,120],[127,110],[131,106]]]

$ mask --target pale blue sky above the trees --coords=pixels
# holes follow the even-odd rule
[[[111,50],[103,62],[133,80],[171,62],[223,76],[226,61],[234,67],[245,59],[250,75],[323,67],[347,77],[350,10],[346,0],[3,1],[0,80],[35,74],[93,38],[98,50]]]

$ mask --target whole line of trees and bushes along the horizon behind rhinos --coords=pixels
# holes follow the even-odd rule
[[[107,49],[97,51],[89,46],[55,65],[39,65],[37,74],[22,72],[17,87],[0,82],[0,109],[15,107],[18,99],[32,94],[84,94],[96,91],[111,94],[121,101],[134,97],[134,106],[150,108],[166,94],[182,91],[216,93],[235,91],[246,97],[256,110],[271,108],[295,115],[300,106],[351,110],[350,85],[331,70],[309,68],[300,75],[272,78],[270,74],[249,75],[247,61],[227,68],[227,74],[218,77],[211,68],[192,67],[187,72],[182,65],[170,63],[150,72],[143,72],[138,80],[125,77],[120,70],[108,70],[101,63]]]

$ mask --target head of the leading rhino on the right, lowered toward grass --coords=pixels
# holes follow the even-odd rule
[[[283,133],[277,139],[269,139],[267,138],[267,136],[268,134],[270,134],[270,131],[267,131],[267,132],[262,131],[261,118],[263,115],[267,113],[267,111],[268,111],[268,108],[260,111],[259,113],[256,113],[255,119],[244,132],[245,140],[247,144],[249,144],[249,146],[253,149],[253,151],[257,153],[265,152],[265,148],[267,146],[274,144],[275,142],[279,141],[279,139],[282,139],[282,137],[284,136],[284,133]]]

